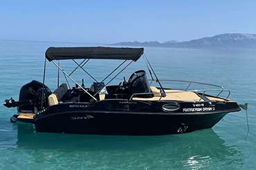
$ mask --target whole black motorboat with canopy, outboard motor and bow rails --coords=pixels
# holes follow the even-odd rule
[[[132,72],[127,81],[124,78],[123,82],[110,85],[140,58],[145,60],[150,79],[145,70],[138,70]],[[121,60],[122,63],[102,81],[97,81],[84,65],[89,60],[99,59]],[[47,61],[56,65],[66,78],[53,92],[45,84]],[[73,72],[81,69],[88,74],[93,79],[91,87],[77,83],[71,77],[73,72],[68,74],[56,61],[74,62]],[[110,76],[113,78],[105,82]],[[70,87],[69,81],[75,83],[75,87]],[[163,87],[163,82],[170,87]],[[184,89],[171,88],[175,82],[188,85]],[[208,88],[190,89],[194,84]],[[219,85],[158,79],[143,48],[49,47],[45,53],[43,82],[33,80],[23,85],[19,100],[10,98],[4,105],[17,107],[17,114],[10,118],[12,122],[33,123],[36,131],[153,136],[212,128],[226,114],[241,110],[229,96],[230,91]]]

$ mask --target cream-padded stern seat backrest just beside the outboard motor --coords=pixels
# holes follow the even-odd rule
[[[66,83],[62,83],[60,87],[55,89],[55,91],[48,96],[48,105],[57,105],[59,103],[59,100],[68,92],[68,87]]]

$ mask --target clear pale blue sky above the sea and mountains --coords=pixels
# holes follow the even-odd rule
[[[256,34],[256,1],[0,0],[0,40],[110,44]]]

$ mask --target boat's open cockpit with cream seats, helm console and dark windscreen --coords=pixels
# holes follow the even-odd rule
[[[95,99],[104,100],[109,98],[129,99],[133,94],[137,94],[136,97],[140,98],[153,97],[153,94],[149,94],[152,91],[144,70],[138,70],[131,74],[128,81],[124,78],[124,81],[120,82],[119,85],[105,86],[103,82],[94,82],[90,88],[84,89],[86,92],[81,88],[73,87],[73,89],[68,89],[66,83],[62,83],[60,87],[48,96],[48,103],[49,105],[57,105],[60,101],[65,103],[95,102]]]

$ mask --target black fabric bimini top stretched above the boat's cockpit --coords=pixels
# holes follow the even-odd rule
[[[128,47],[49,47],[46,59],[114,59],[137,61],[143,54],[144,48]]]

